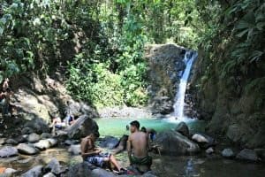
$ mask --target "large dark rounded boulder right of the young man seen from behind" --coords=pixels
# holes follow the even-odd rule
[[[155,142],[163,154],[189,155],[200,151],[197,143],[176,131],[166,131],[158,134]]]

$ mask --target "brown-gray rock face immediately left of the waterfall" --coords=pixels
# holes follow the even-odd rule
[[[179,73],[185,69],[182,61],[186,49],[175,44],[150,45],[146,49],[150,108],[153,113],[167,114],[172,111]],[[158,97],[157,97],[158,96]],[[162,97],[160,97],[162,96]],[[164,97],[163,97],[164,96]]]

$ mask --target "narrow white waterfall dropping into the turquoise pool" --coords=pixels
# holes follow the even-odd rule
[[[197,58],[197,53],[192,51],[186,51],[184,62],[186,64],[186,68],[184,73],[182,73],[179,85],[178,85],[178,92],[175,96],[175,104],[173,105],[174,112],[173,116],[174,119],[178,119],[183,121],[186,119],[184,115],[184,106],[185,106],[185,93],[186,93],[186,83],[188,81],[191,68],[193,65],[194,59]]]

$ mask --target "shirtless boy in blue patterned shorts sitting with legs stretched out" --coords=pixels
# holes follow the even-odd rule
[[[81,156],[84,161],[99,167],[111,167],[114,165],[118,172],[124,169],[118,165],[116,158],[110,153],[102,153],[102,150],[95,148],[96,137],[94,134],[88,135],[81,142]],[[111,169],[112,170],[112,169]]]

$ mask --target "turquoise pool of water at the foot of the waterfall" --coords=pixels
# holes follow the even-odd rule
[[[95,119],[99,126],[100,135],[129,135],[129,131],[126,130],[126,125],[129,125],[134,119],[131,118],[116,118],[116,119]],[[170,130],[177,127],[180,120],[172,119],[137,119],[140,122],[140,127],[154,128],[157,132],[163,130]],[[204,132],[205,122],[197,119],[186,119],[186,124],[192,133]]]

